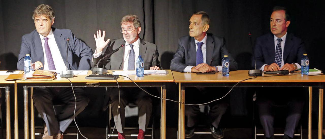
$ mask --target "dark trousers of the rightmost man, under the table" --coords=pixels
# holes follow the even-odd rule
[[[259,117],[263,126],[265,137],[274,134],[273,107],[275,105],[285,105],[287,107],[287,118],[284,134],[293,137],[301,113],[304,107],[303,87],[263,87],[257,92],[257,106]]]

